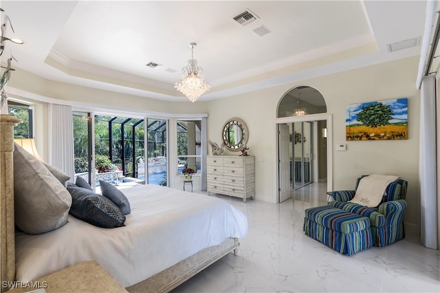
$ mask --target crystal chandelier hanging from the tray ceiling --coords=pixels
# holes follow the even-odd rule
[[[188,65],[181,69],[183,76],[181,80],[177,80],[174,87],[182,94],[184,94],[191,102],[195,102],[199,96],[211,89],[209,83],[203,80],[203,69],[197,65],[197,60],[194,60],[194,47],[196,43],[190,43],[191,58],[188,60]]]

